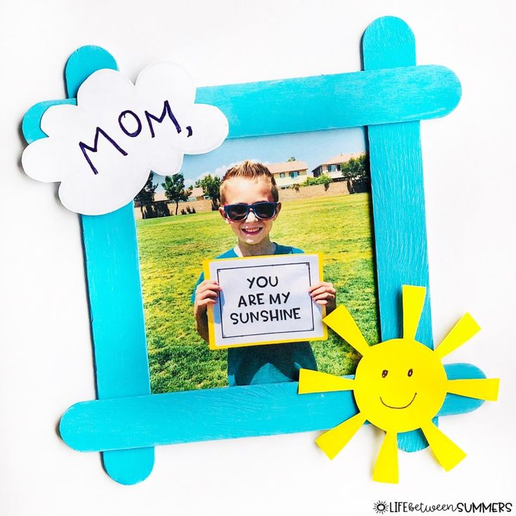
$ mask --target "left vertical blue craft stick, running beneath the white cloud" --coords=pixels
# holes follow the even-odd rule
[[[97,69],[117,69],[106,50],[76,50],[64,77],[69,97]],[[90,299],[98,398],[150,394],[149,360],[143,314],[140,262],[133,203],[100,217],[81,217]],[[154,449],[109,451],[102,456],[107,474],[121,484],[147,478]]]

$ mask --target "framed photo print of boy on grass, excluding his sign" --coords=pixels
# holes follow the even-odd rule
[[[152,393],[297,381],[301,368],[353,374],[360,355],[332,330],[325,340],[210,349],[207,311],[220,287],[203,262],[320,254],[323,278],[307,299],[326,313],[346,304],[374,344],[369,192],[362,128],[229,139],[185,156],[176,175],[151,173],[134,210]]]

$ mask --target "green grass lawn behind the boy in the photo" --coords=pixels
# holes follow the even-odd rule
[[[153,393],[227,385],[226,351],[210,351],[195,329],[191,293],[203,259],[236,243],[218,212],[137,220]],[[273,241],[322,252],[337,304],[351,311],[369,344],[378,341],[368,194],[283,203]],[[330,330],[312,343],[321,371],[350,374],[360,355]]]

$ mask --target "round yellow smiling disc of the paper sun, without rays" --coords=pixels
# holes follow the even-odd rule
[[[444,402],[447,376],[430,348],[409,339],[372,346],[358,363],[355,401],[367,421],[406,432],[432,419]]]

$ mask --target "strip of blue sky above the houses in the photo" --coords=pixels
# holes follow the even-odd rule
[[[305,161],[308,170],[311,171],[336,154],[360,151],[365,151],[363,128],[236,138],[226,140],[221,147],[208,154],[184,156],[181,172],[186,186],[189,186],[207,172],[222,176],[233,163],[245,159],[276,163],[287,161],[290,156],[295,156],[299,161]],[[154,181],[160,183],[157,191],[163,191],[162,177],[154,175]]]

